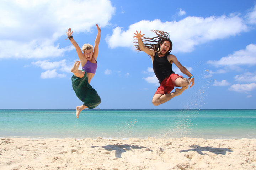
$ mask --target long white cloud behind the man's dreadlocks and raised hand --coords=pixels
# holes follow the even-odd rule
[[[122,27],[113,29],[113,34],[105,39],[110,48],[130,47],[134,49],[134,32],[141,30],[145,37],[153,37],[150,30],[164,30],[170,33],[170,39],[174,44],[174,52],[191,52],[195,45],[210,40],[235,36],[247,31],[247,26],[238,16],[211,16],[207,18],[188,16],[180,21],[162,22],[142,20],[129,26],[128,30]]]

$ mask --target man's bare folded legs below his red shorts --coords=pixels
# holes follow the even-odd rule
[[[178,95],[181,95],[183,93],[184,90],[186,90],[188,88],[188,80],[186,78],[177,78],[175,80],[175,84],[177,86],[180,86],[182,87],[181,89],[178,89],[176,88],[175,89],[175,92],[173,93],[167,93],[167,94],[155,94],[153,96],[153,99],[152,99],[152,103],[155,105],[155,106],[158,106],[162,103],[165,103],[169,100],[171,100],[172,98],[174,98],[175,96],[178,96]]]

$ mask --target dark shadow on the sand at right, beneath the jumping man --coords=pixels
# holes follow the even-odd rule
[[[212,148],[212,147],[209,147],[209,146],[205,146],[205,147],[200,147],[198,145],[192,145],[190,146],[191,148],[194,148],[194,149],[188,149],[188,150],[181,150],[180,152],[188,152],[188,151],[196,151],[198,152],[200,155],[204,155],[206,153],[202,153],[202,151],[209,151],[209,152],[212,152],[212,153],[215,153],[215,154],[222,154],[222,155],[225,155],[226,152],[233,152],[232,150],[228,149],[228,148]]]

